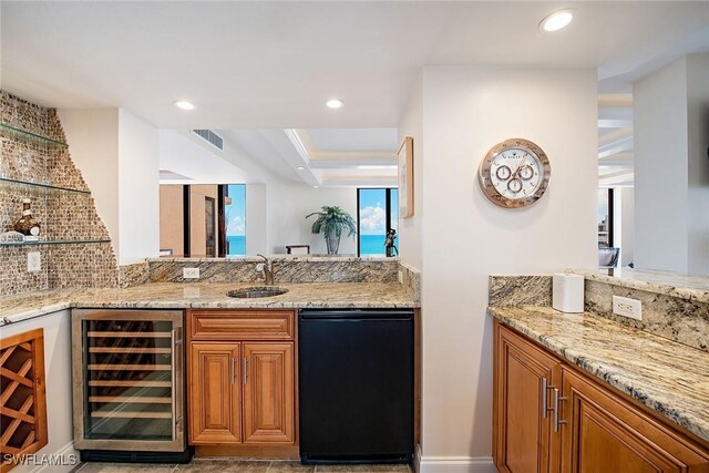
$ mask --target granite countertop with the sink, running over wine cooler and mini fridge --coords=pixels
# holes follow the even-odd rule
[[[288,292],[258,299],[227,297],[253,284],[157,282],[126,289],[53,289],[0,298],[0,319],[12,321],[73,307],[83,308],[414,308],[398,282],[279,284]]]

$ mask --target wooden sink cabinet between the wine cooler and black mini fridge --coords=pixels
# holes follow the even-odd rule
[[[267,330],[259,332],[264,312],[188,315],[191,444],[295,444],[295,313],[269,311],[263,319]]]

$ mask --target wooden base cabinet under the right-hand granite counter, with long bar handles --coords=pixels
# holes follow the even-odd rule
[[[709,445],[495,321],[501,472],[709,472]]]

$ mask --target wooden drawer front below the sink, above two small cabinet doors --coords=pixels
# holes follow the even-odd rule
[[[292,340],[292,310],[193,310],[192,340]]]

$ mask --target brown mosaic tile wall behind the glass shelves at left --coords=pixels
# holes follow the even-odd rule
[[[3,124],[64,142],[64,132],[54,110],[44,109],[6,91],[0,91],[0,121]],[[50,146],[41,141],[3,137],[0,177],[89,191],[68,146]],[[22,199],[31,199],[32,214],[41,225],[40,239],[109,240],[109,232],[89,193],[47,191],[0,182],[0,233],[12,229],[20,217]],[[39,251],[41,270],[28,273],[27,254]],[[0,296],[64,287],[115,287],[119,268],[110,241],[0,247]]]

